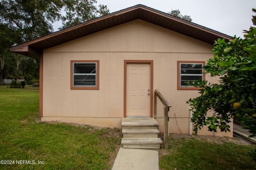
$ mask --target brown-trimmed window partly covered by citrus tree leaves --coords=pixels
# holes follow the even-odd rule
[[[178,61],[178,90],[196,90],[200,89],[194,86],[189,86],[188,82],[195,80],[204,80],[203,66],[205,62],[195,61]]]

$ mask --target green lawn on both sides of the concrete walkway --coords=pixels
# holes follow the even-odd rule
[[[44,164],[0,165],[0,169],[110,169],[121,136],[118,129],[41,123],[38,89],[0,86],[0,160],[35,160]],[[200,140],[199,140],[200,139]],[[205,137],[207,139],[207,137]],[[214,138],[213,138],[214,139]],[[161,169],[256,169],[255,146],[209,142],[171,135]],[[163,149],[161,149],[163,151]],[[166,151],[165,151],[166,152]]]

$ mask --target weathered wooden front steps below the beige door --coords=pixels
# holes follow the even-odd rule
[[[159,149],[158,122],[154,118],[132,117],[122,119],[122,145],[124,148]]]

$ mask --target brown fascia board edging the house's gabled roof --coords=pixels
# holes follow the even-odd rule
[[[124,13],[132,12],[132,11],[135,11],[135,10],[138,10],[138,9],[140,9],[142,11],[145,10],[147,12],[151,12],[151,13],[163,16],[163,17],[165,17],[167,19],[170,19],[170,20],[173,20],[173,21],[176,21],[176,22],[188,25],[189,27],[196,28],[198,30],[201,30],[202,32],[207,32],[207,33],[210,33],[211,35],[214,35],[214,36],[217,36],[217,37],[220,37],[220,38],[225,38],[227,40],[231,40],[232,39],[230,36],[225,35],[224,33],[221,33],[221,32],[218,32],[218,31],[215,31],[215,30],[203,27],[202,25],[199,25],[199,24],[196,24],[196,23],[193,23],[193,22],[189,22],[189,21],[177,18],[175,16],[172,16],[170,14],[167,14],[167,13],[155,10],[154,8],[150,8],[148,6],[139,4],[139,5],[135,5],[135,6],[129,7],[129,8],[125,8],[125,9],[117,11],[117,12],[113,12],[111,14],[107,14],[107,15],[101,16],[99,18],[96,18],[96,19],[93,19],[93,20],[90,20],[90,21],[83,22],[83,23],[75,25],[73,27],[69,27],[69,28],[66,28],[66,29],[63,29],[63,30],[59,30],[57,32],[53,32],[50,35],[46,35],[46,36],[43,36],[43,37],[31,40],[31,41],[27,41],[26,43],[23,43],[23,44],[11,47],[10,50],[12,52],[16,52],[16,53],[19,53],[19,54],[29,55],[29,56],[31,56],[33,58],[39,58],[39,54],[42,53],[43,49],[39,49],[39,50],[38,49],[33,49],[33,48],[29,47],[29,45],[38,43],[39,41],[43,41],[43,40],[46,40],[46,39],[49,39],[49,38],[53,38],[55,36],[61,35],[62,33],[66,33],[66,32],[69,32],[69,31],[81,28],[81,27],[85,27],[86,25],[90,25],[90,24],[93,24],[95,22],[99,22],[101,20],[106,20],[106,19],[109,19],[111,17],[122,15]],[[70,39],[70,40],[72,40],[72,39]],[[63,42],[63,43],[65,43],[65,42]]]

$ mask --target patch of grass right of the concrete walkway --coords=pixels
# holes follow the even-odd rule
[[[167,154],[159,159],[161,169],[256,169],[252,145],[174,136],[169,143]]]

